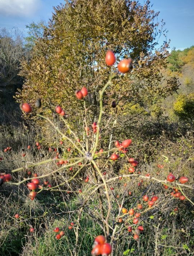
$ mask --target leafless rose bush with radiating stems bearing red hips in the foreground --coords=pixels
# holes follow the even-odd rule
[[[107,51],[105,62],[108,66],[116,65],[116,58],[111,50]],[[141,169],[138,159],[131,155],[131,147],[135,146],[133,138],[116,139],[111,142],[109,149],[101,147],[101,123],[103,115],[106,114],[103,95],[111,90],[114,78],[118,75],[123,76],[133,69],[132,59],[121,60],[117,67],[118,73],[111,73],[109,80],[99,91],[100,111],[95,122],[91,123],[87,116],[87,88],[80,87],[80,91],[75,92],[77,101],[82,101],[84,107],[83,123],[80,124],[80,129],[83,130],[82,137],[78,131],[71,128],[72,125],[66,116],[68,113],[61,106],[56,106],[52,118],[37,114],[55,129],[59,136],[57,147],[50,146],[42,151],[44,146],[38,141],[28,145],[22,149],[23,158],[25,159],[28,152],[33,150],[41,161],[34,163],[24,160],[24,164],[13,169],[11,174],[2,172],[0,185],[4,187],[6,183],[22,187],[26,191],[26,200],[34,201],[34,205],[36,201],[38,203],[38,200],[41,200],[41,196],[46,197],[48,194],[57,197],[60,193],[63,200],[56,209],[54,204],[52,213],[45,210],[40,214],[36,207],[33,215],[29,217],[25,212],[14,212],[9,224],[1,225],[1,232],[26,223],[29,225],[27,234],[29,239],[32,239],[33,234],[40,233],[41,225],[45,225],[45,219],[63,216],[66,219],[61,219],[58,222],[59,226],[55,220],[50,219],[51,239],[54,240],[53,243],[59,243],[59,246],[63,241],[67,243],[68,255],[128,255],[133,252],[132,247],[135,243],[137,248],[141,241],[144,241],[146,246],[149,239],[155,241],[152,253],[155,252],[157,255],[161,250],[158,230],[165,221],[164,212],[166,214],[168,211],[169,218],[173,218],[176,212],[181,211],[181,205],[185,202],[194,205],[188,196],[194,189],[188,177],[168,170],[167,174],[164,173],[159,178],[157,174],[152,175],[149,169]],[[27,114],[39,107],[40,99],[36,101],[35,106],[28,103],[20,105],[21,110]],[[112,107],[116,108],[115,102]],[[64,124],[63,132],[52,121],[53,118],[58,118]],[[103,129],[108,129],[108,125],[109,123]],[[6,160],[6,154],[11,154],[11,147],[4,149],[1,162]],[[52,168],[49,165],[51,163]],[[45,167],[47,172],[43,173],[41,170]],[[35,168],[37,173],[34,172]],[[156,164],[158,173],[163,168],[165,165]],[[20,173],[25,173],[25,177],[21,178]],[[76,203],[74,202],[72,207],[75,199]],[[83,216],[86,215],[89,221],[93,221],[96,230],[92,231],[91,228],[85,227],[88,220]],[[152,229],[156,229],[154,237],[150,233]],[[88,236],[88,241],[83,239],[83,234]],[[34,239],[38,241],[37,236]],[[126,241],[123,247],[120,246],[121,240],[122,243]],[[84,252],[82,247],[85,248]]]

